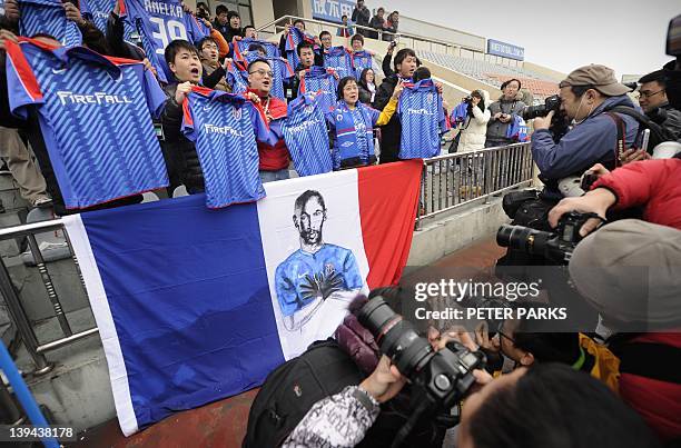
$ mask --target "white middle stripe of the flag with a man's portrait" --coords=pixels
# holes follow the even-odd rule
[[[362,237],[357,170],[303,177],[286,182],[269,182],[265,183],[265,190],[267,197],[257,202],[260,237],[282,352],[285,359],[290,359],[305,351],[315,340],[332,336],[347,313],[348,302],[357,295],[358,290],[365,293],[368,291],[366,276],[369,266]],[[300,255],[300,236],[293,219],[296,199],[307,190],[318,191],[326,207],[326,220],[322,228],[322,238],[326,251],[320,250],[315,256]],[[329,253],[332,255],[329,256]],[[348,253],[349,258],[354,260],[349,263],[347,262]],[[292,259],[289,257],[298,258]],[[285,260],[289,260],[290,263],[285,262]],[[342,263],[342,260],[346,262]],[[347,278],[351,275],[345,265],[352,265],[355,267],[354,271],[358,272],[361,287],[334,292],[320,302],[319,308],[313,315],[314,317],[302,328],[288,330],[284,325],[285,318],[277,299],[277,268],[280,265],[302,266],[300,262],[305,263],[307,261],[318,263],[319,268],[313,271],[302,267],[293,267],[289,272],[295,271],[296,278],[284,276],[279,277],[279,281],[285,278],[297,286],[305,281],[307,275],[328,275],[329,272],[338,272],[348,281]],[[302,297],[299,293],[293,295]],[[307,305],[302,311],[313,308]],[[304,316],[305,313],[296,311],[294,315]]]

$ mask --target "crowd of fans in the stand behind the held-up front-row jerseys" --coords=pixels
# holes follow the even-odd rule
[[[210,17],[208,6],[205,2],[198,2],[196,11],[184,8],[185,14],[195,18],[197,24],[203,27],[204,37],[195,38],[194,41],[177,39],[166,42],[165,48],[161,48],[165,52],[165,61],[161,61],[161,63],[165,62],[165,67],[159,68],[159,64],[155,63],[152,58],[147,58],[149,49],[145,50],[141,36],[137,38],[138,40],[131,41],[128,33],[130,24],[127,22],[126,14],[121,13],[120,8],[121,3],[115,2],[112,10],[109,11],[106,28],[98,29],[86,12],[81,12],[70,2],[63,3],[66,20],[78,27],[82,34],[83,47],[108,57],[139,60],[158,77],[158,81],[167,94],[167,102],[162,113],[157,119],[157,127],[159,128],[161,149],[168,170],[168,195],[172,195],[176,188],[181,185],[187,188],[189,193],[204,190],[201,167],[194,142],[187,140],[181,131],[182,103],[195,86],[246,94],[250,101],[264,107],[272,135],[269,140],[258,141],[257,143],[261,181],[288,178],[290,155],[279,129],[286,119],[287,102],[296,99],[300,91],[303,78],[314,66],[325,68],[335,78],[335,83],[343,86],[343,89],[334,89],[332,94],[334,97],[337,94],[336,99],[339,102],[349,106],[347,113],[353,115],[354,120],[363,117],[362,120],[365,121],[364,123],[355,122],[358,129],[356,141],[358,150],[355,152],[361,153],[362,157],[354,158],[354,163],[344,163],[343,168],[376,161],[373,151],[375,139],[373,128],[376,123],[383,123],[383,121],[391,119],[392,112],[386,111],[385,118],[378,120],[378,115],[373,116],[373,109],[365,110],[364,108],[364,104],[372,104],[378,90],[371,62],[373,53],[364,50],[363,34],[351,34],[349,31],[353,30],[347,18],[345,18],[347,26],[339,27],[338,33],[351,38],[347,49],[351,58],[349,67],[353,70],[351,73],[337,72],[328,68],[325,56],[333,47],[332,34],[328,31],[322,32],[318,37],[312,37],[305,32],[305,22],[297,20],[286,27],[279,48],[276,49],[272,43],[258,40],[257,31],[253,26],[243,26],[238,12],[229,11],[225,6],[218,6],[215,16]],[[21,21],[20,2],[9,0],[4,4],[4,11],[6,14],[1,22],[2,39],[3,41],[17,42]],[[391,14],[391,22],[386,22],[385,26],[395,29],[397,13]],[[373,22],[383,27],[383,21],[375,20]],[[293,48],[289,47],[289,40],[293,40],[292,28],[299,31],[299,36],[296,37],[298,41],[293,44]],[[30,37],[42,40],[48,46],[60,47],[62,44],[59,39],[45,32]],[[239,48],[241,41],[248,41],[248,44]],[[270,48],[275,48],[275,50],[270,52]],[[346,51],[342,47],[338,48]],[[413,51],[409,51],[408,58],[414,59],[414,57]],[[359,62],[357,58],[364,58],[363,62]],[[265,66],[268,66],[268,68]],[[275,76],[275,71],[278,72],[279,68],[283,68],[284,72],[286,70],[293,71],[293,76],[288,77],[287,73],[284,73],[284,77]],[[161,74],[166,69],[170,77],[164,82]],[[404,76],[411,77],[412,72],[405,70]],[[340,79],[340,74],[349,74],[349,77]],[[3,72],[3,77],[7,77],[7,73]],[[7,82],[3,82],[3,84],[7,84]],[[285,92],[284,98],[274,94],[277,88]],[[357,91],[359,101],[352,99],[354,93],[345,98],[344,90]],[[387,106],[391,96],[392,91],[386,98],[382,99],[385,102],[383,107]],[[9,111],[7,98],[6,94],[3,102],[7,121],[3,125],[8,128],[3,130],[1,147],[4,151],[8,168],[17,179],[22,195],[32,207],[53,206],[59,215],[70,212],[65,207],[60,187],[51,168],[51,160],[47,150],[45,150],[46,145],[42,141],[43,138],[40,135],[38,123],[29,125],[17,120]],[[336,99],[334,99],[334,102]],[[357,113],[355,104],[357,104],[358,110],[365,111]],[[391,103],[391,106],[393,104]],[[394,120],[392,122],[394,123]],[[329,129],[329,137],[333,142],[337,140],[337,136],[333,131],[333,120],[329,121],[329,128],[332,128]],[[40,169],[28,156],[29,147],[36,153]],[[339,162],[336,165],[339,166]],[[100,207],[117,207],[139,200],[141,200],[141,197],[136,195],[91,208],[82,208],[80,211]]]

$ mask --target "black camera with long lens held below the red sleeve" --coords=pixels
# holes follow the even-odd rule
[[[582,240],[580,229],[590,218],[599,218],[599,216],[575,211],[565,213],[559,221],[555,232],[503,225],[496,232],[496,243],[568,265],[574,248]]]

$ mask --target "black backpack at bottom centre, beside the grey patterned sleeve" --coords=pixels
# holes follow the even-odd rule
[[[278,447],[315,402],[358,385],[364,377],[335,340],[314,342],[267,376],[250,406],[241,447]]]

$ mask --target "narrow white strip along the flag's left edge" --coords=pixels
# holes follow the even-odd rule
[[[97,261],[95,260],[90,240],[88,239],[88,233],[80,219],[80,215],[67,216],[62,219],[71,239],[73,252],[85,280],[90,307],[99,328],[99,336],[107,357],[109,376],[111,377],[114,402],[116,404],[120,429],[124,435],[130,436],[138,430],[137,417],[135,417],[132,408],[126,364],[118,341],[114,318],[111,317],[107,293],[105,292],[99,269],[97,268]]]

